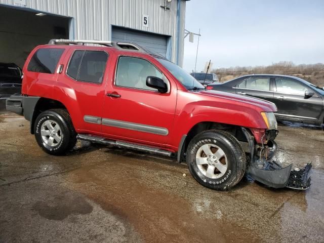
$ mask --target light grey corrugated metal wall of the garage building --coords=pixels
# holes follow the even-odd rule
[[[172,36],[172,61],[176,52],[183,54],[181,36],[177,50],[177,4],[181,1],[181,26],[184,30],[185,1],[174,0],[165,11],[160,8],[164,0],[26,0],[26,8],[73,18],[74,36],[78,39],[111,39],[111,25]],[[14,5],[14,0],[0,0],[0,4]],[[142,25],[143,15],[149,16],[149,26]],[[179,61],[180,62],[180,61]],[[182,63],[182,62],[181,62]]]

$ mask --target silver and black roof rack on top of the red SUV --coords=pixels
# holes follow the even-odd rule
[[[126,49],[131,51],[140,51],[147,54],[150,54],[152,56],[157,56],[161,58],[165,58],[161,56],[158,53],[155,53],[147,48],[144,48],[140,45],[134,44],[134,43],[128,43],[128,42],[111,42],[111,41],[93,41],[93,40],[87,40],[87,39],[51,39],[49,41],[49,45],[57,45],[57,44],[63,44],[63,45],[84,45],[84,44],[98,44],[103,45],[107,47],[114,47],[118,49]]]

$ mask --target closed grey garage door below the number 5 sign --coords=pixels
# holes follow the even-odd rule
[[[166,35],[116,26],[112,27],[111,41],[136,43],[164,57],[167,57],[167,38],[168,36]]]

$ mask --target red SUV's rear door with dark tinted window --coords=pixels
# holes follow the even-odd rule
[[[63,62],[68,65],[54,87],[56,98],[69,106],[74,127],[82,132],[101,132],[108,58],[107,48],[70,49]]]

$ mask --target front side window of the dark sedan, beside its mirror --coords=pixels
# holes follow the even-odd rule
[[[275,79],[275,85],[277,92],[280,93],[305,95],[305,91],[310,91],[305,86],[289,78],[278,77]]]

